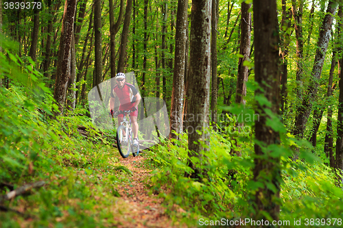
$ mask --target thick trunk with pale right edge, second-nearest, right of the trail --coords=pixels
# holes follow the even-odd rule
[[[187,107],[187,130],[189,157],[198,157],[202,166],[206,164],[206,157],[202,151],[209,151],[209,97],[211,77],[211,0],[193,0],[191,3],[191,44],[190,44],[190,72],[189,104]],[[196,118],[189,118],[191,114]],[[193,116],[193,117],[194,117]],[[200,118],[198,118],[200,116]],[[202,134],[198,134],[201,131]],[[204,146],[199,143],[201,140]],[[191,178],[202,181],[206,170],[200,164],[188,161],[194,170]]]

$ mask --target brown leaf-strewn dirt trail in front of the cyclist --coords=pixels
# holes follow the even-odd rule
[[[173,225],[171,218],[165,214],[165,208],[161,205],[162,199],[156,195],[149,195],[149,189],[145,186],[150,171],[143,167],[144,157],[121,158],[120,162],[132,171],[128,182],[117,186],[121,199],[126,202],[128,210],[119,218],[118,227],[187,227],[185,225]]]

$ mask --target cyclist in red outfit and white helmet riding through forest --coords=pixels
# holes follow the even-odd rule
[[[131,110],[130,113],[131,123],[132,123],[132,133],[133,133],[133,144],[138,145],[138,105],[141,101],[141,95],[132,84],[128,84],[125,81],[124,73],[117,73],[115,75],[117,80],[117,85],[113,88],[110,93],[110,109],[114,110],[115,108],[115,97],[118,97],[120,105],[119,111]],[[111,112],[112,113],[112,112]],[[123,114],[118,115],[118,123],[123,121]]]

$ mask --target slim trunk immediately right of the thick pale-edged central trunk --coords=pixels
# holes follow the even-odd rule
[[[218,0],[212,1],[212,18],[211,18],[211,71],[212,71],[212,86],[211,86],[211,122],[213,129],[217,129],[217,21],[219,17]]]

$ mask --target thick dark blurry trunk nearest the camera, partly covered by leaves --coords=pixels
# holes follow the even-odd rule
[[[263,184],[258,188],[255,198],[255,220],[279,220],[281,167],[280,157],[273,156],[269,145],[279,144],[279,132],[276,132],[268,125],[268,114],[270,110],[274,114],[279,112],[279,23],[277,19],[276,0],[254,0],[254,33],[255,33],[255,81],[261,90],[255,91],[256,96],[265,97],[271,107],[257,104],[256,114],[259,120],[255,119],[255,167],[253,180]],[[266,19],[268,15],[268,20]],[[263,147],[261,147],[263,145]],[[270,218],[269,217],[269,218]],[[270,226],[271,227],[271,226]]]

